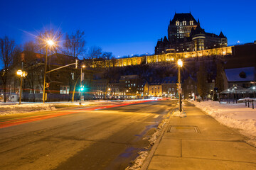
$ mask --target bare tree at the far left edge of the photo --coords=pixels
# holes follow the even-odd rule
[[[0,71],[0,77],[4,87],[4,102],[6,102],[6,83],[10,72],[11,64],[14,62],[15,41],[10,40],[7,36],[0,38],[0,62],[3,69]]]

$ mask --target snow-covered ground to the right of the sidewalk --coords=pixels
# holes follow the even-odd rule
[[[247,142],[256,146],[256,108],[252,109],[251,103],[250,108],[247,108],[245,103],[190,102],[218,120],[219,123],[239,129],[242,135],[250,138]]]

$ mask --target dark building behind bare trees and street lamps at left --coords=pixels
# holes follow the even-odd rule
[[[54,53],[48,56],[47,70],[56,69],[63,65],[75,63],[75,57]],[[16,75],[18,69],[28,74],[23,78],[23,101],[42,101],[43,98],[43,74],[45,68],[45,55],[36,52],[21,52],[21,67],[14,68],[14,72],[8,81],[10,96],[18,94],[20,89],[19,78]],[[63,69],[55,70],[46,74],[46,101],[71,100],[74,86],[80,77],[80,68],[76,69],[75,64]],[[18,82],[17,82],[18,81]],[[75,99],[78,94],[75,94]]]

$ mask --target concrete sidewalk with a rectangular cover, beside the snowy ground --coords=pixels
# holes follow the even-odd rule
[[[256,148],[186,102],[172,117],[147,169],[256,169]]]

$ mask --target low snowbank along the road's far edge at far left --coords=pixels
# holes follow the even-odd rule
[[[55,106],[53,104],[31,103],[22,105],[3,105],[0,106],[0,115],[8,115],[14,113],[25,113],[30,111],[53,111]]]

